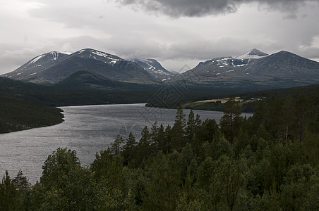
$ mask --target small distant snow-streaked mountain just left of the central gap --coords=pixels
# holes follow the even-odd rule
[[[162,65],[155,59],[152,58],[145,58],[145,59],[138,59],[133,58],[131,62],[137,63],[140,65],[141,68],[148,71],[150,75],[153,75],[155,78],[159,79],[159,81],[167,81],[174,76],[173,73],[169,72]]]

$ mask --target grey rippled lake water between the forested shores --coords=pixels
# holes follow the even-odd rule
[[[64,122],[52,127],[29,129],[21,132],[0,134],[0,176],[8,170],[16,177],[23,170],[29,181],[35,184],[42,174],[47,156],[58,147],[68,147],[77,152],[82,165],[95,159],[95,153],[110,146],[121,134],[130,132],[138,140],[143,127],[157,120],[166,127],[174,124],[175,109],[146,108],[144,104],[70,106],[64,110]],[[184,110],[188,115],[190,110]],[[222,117],[222,112],[195,110],[202,120]],[[0,178],[0,179],[1,179]]]

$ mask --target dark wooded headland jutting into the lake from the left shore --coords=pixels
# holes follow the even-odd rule
[[[59,108],[0,94],[0,133],[59,124],[64,121],[61,112]]]

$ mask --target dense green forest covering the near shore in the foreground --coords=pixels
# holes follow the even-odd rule
[[[219,124],[179,107],[89,166],[57,148],[33,186],[5,172],[0,210],[319,210],[318,164],[318,93],[258,101],[248,119],[230,98]]]

